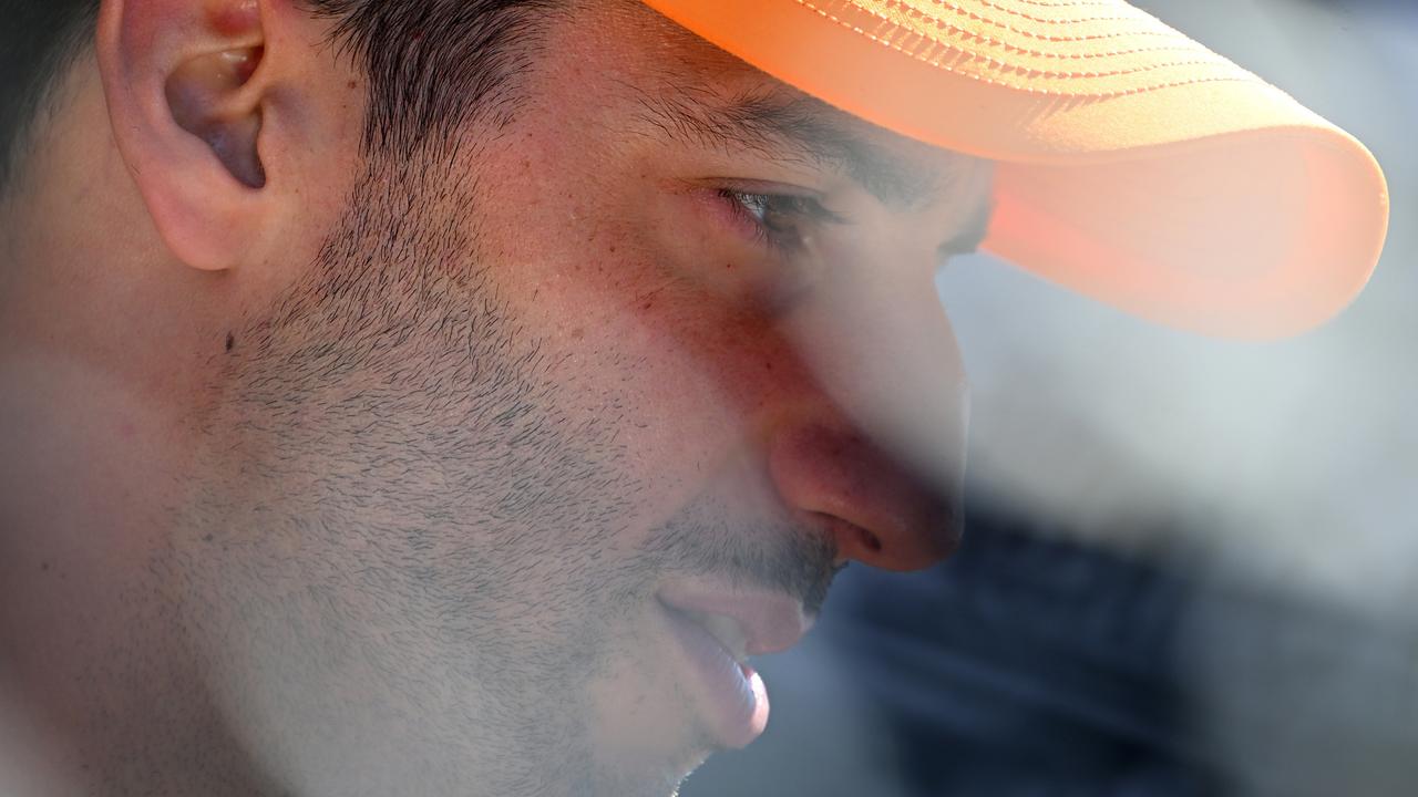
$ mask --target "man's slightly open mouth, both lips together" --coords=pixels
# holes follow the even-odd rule
[[[797,644],[811,625],[801,603],[689,584],[669,586],[657,597],[715,742],[729,749],[747,746],[769,720],[769,693],[747,657]]]

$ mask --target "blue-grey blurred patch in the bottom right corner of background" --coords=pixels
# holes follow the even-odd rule
[[[1254,584],[1197,593],[1180,672],[1234,791],[1418,793],[1418,628]]]

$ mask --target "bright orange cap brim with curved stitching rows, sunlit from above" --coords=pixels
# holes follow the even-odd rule
[[[1137,315],[1271,338],[1388,225],[1358,140],[1120,0],[644,0],[868,122],[998,162],[984,247]]]

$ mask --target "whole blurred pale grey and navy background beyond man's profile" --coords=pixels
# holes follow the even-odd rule
[[[686,797],[1418,794],[1418,0],[1134,4],[1368,145],[1373,282],[1235,343],[953,264],[964,547],[848,569]]]

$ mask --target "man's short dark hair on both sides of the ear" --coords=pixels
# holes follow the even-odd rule
[[[536,11],[564,0],[305,0],[370,84],[364,145],[411,155],[479,112],[506,121],[535,51]],[[0,0],[0,189],[55,77],[92,38],[98,0]]]

